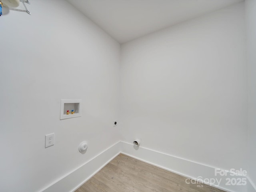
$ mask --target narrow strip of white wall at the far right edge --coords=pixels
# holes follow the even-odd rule
[[[248,176],[256,186],[256,1],[246,0],[246,52],[248,69]],[[254,191],[256,188],[254,189]],[[249,190],[248,192],[252,192]]]

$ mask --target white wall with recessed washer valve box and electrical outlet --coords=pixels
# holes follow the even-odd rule
[[[120,44],[66,1],[29,10],[0,19],[3,192],[38,192],[119,140]],[[82,99],[82,117],[60,120],[61,99]],[[52,132],[55,145],[44,148]]]

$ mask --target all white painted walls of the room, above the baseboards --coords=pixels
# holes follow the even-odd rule
[[[255,1],[246,4],[255,183]],[[115,144],[119,129],[121,140],[138,136],[152,150],[247,168],[243,3],[123,44],[120,118],[120,45],[66,1],[33,1],[30,11],[0,19],[1,191],[42,190]],[[82,117],[60,121],[60,99],[82,99]],[[52,132],[55,145],[45,149]]]

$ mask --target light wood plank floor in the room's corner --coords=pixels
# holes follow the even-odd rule
[[[76,192],[224,192],[206,184],[186,184],[186,177],[118,155]]]

